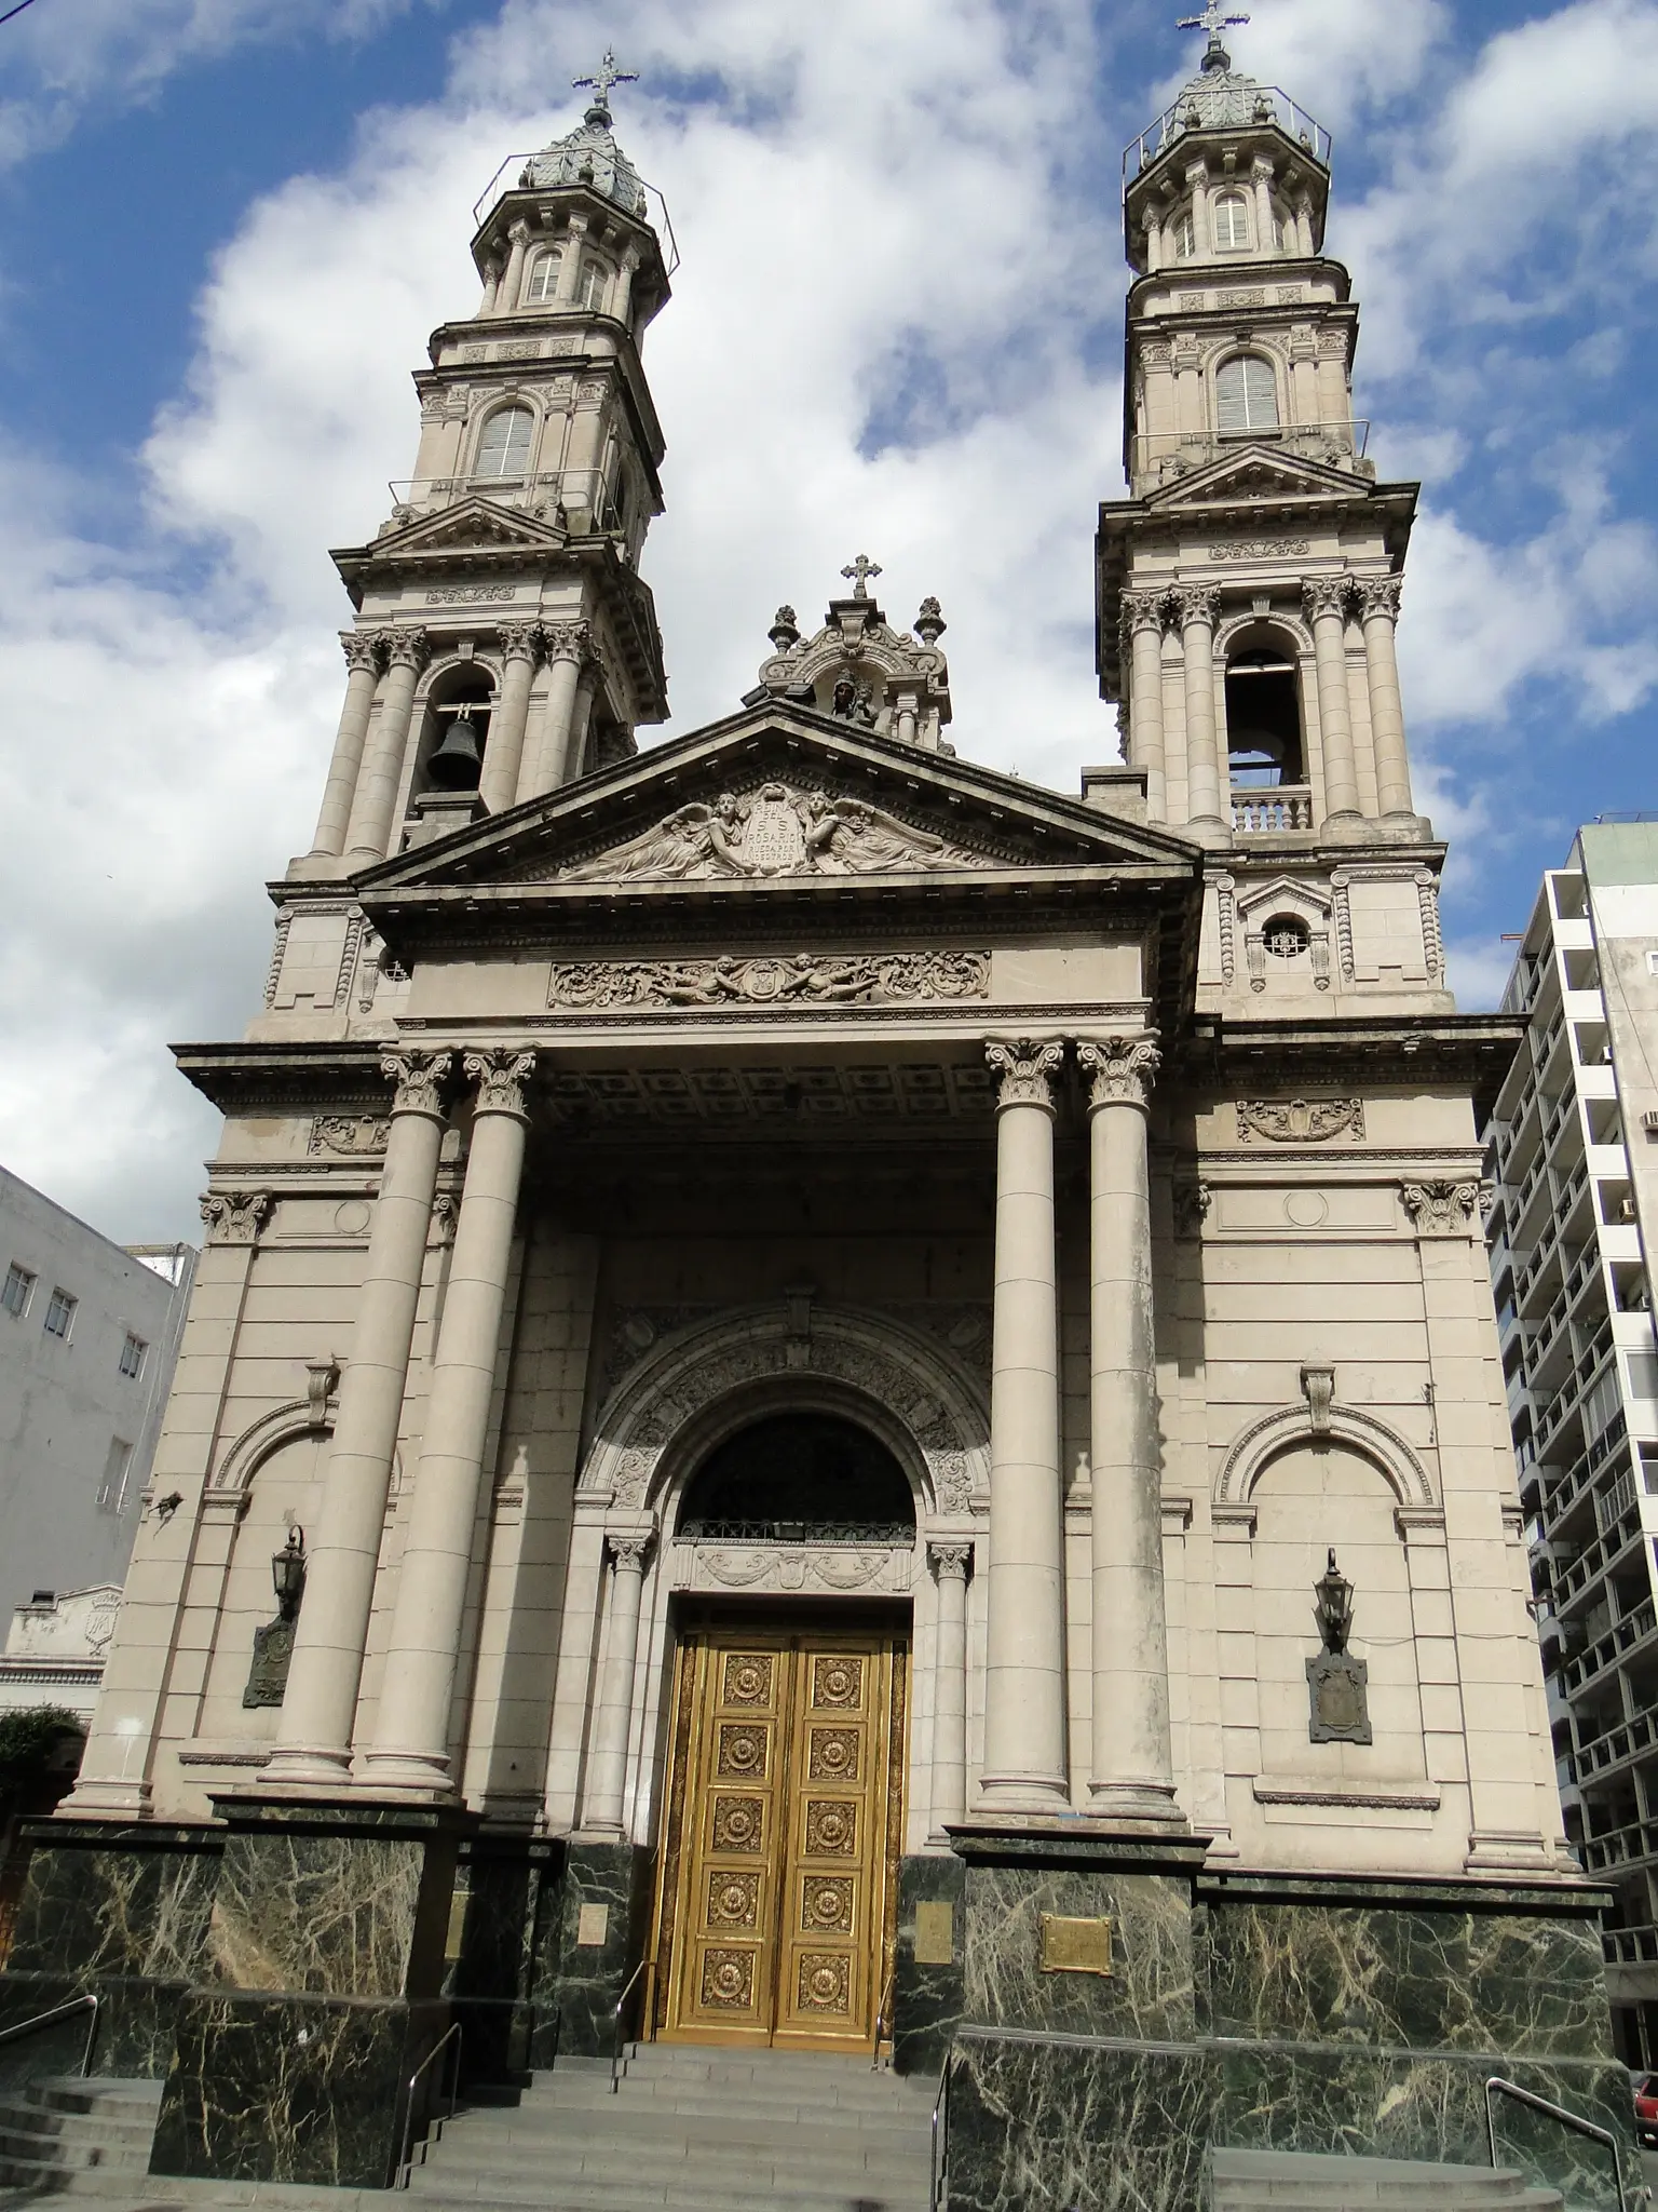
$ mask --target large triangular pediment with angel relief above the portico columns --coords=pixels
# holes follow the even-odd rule
[[[1185,880],[1196,856],[1017,776],[765,703],[387,860],[363,889],[705,898],[1079,867]]]

